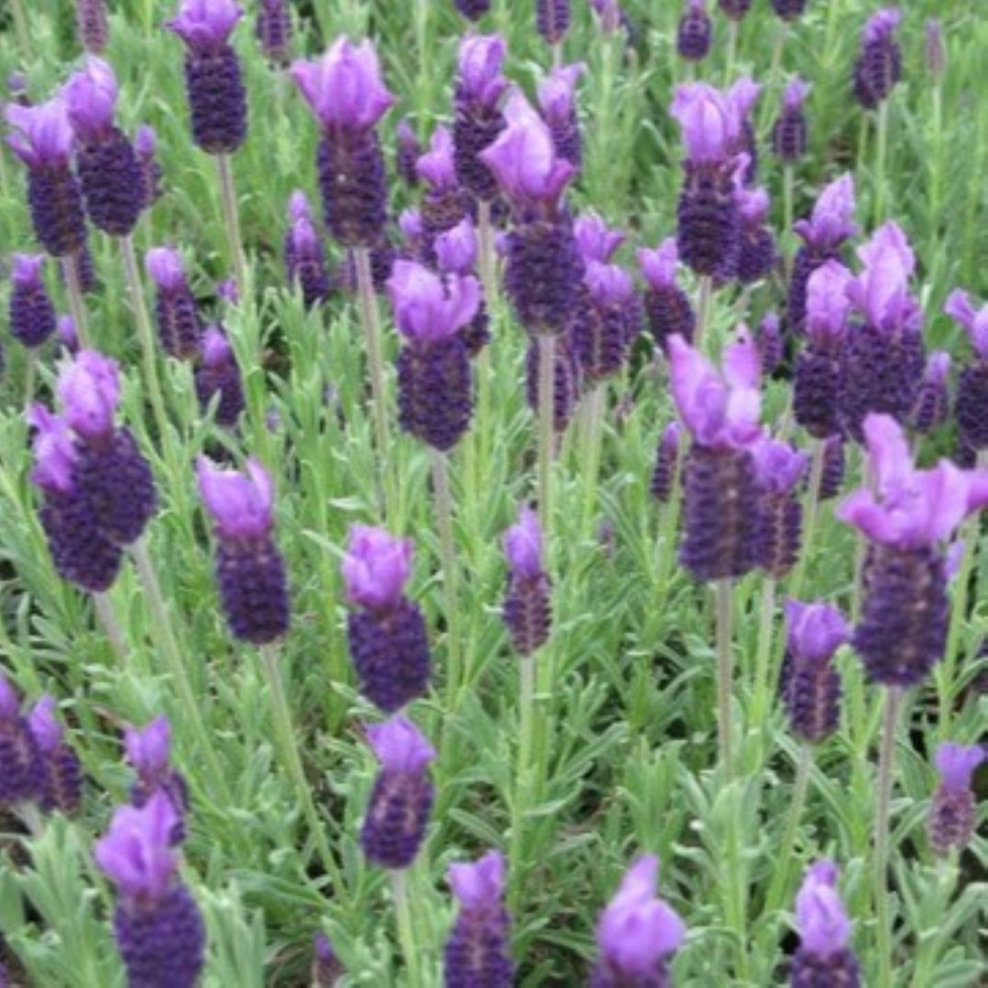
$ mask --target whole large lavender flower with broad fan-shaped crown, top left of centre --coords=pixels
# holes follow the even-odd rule
[[[374,129],[394,103],[371,41],[338,38],[289,75],[322,127],[316,167],[323,216],[344,247],[373,247],[384,232],[384,158]]]

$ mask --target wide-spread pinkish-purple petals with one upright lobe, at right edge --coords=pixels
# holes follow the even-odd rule
[[[855,491],[836,514],[873,541],[898,548],[937,545],[988,504],[988,473],[961,470],[947,459],[917,470],[905,433],[891,416],[869,414],[864,442],[875,489]]]

